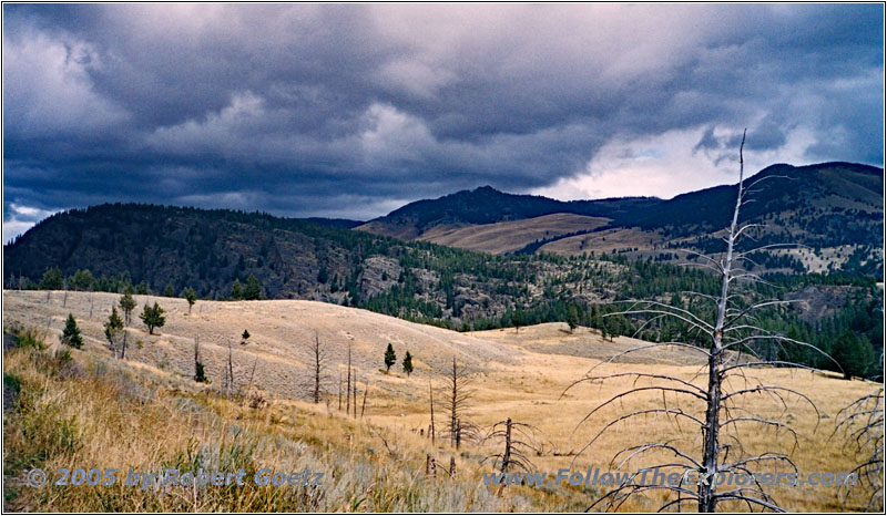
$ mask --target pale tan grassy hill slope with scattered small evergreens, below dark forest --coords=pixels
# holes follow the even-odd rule
[[[246,384],[253,378],[253,384],[261,390],[289,399],[306,396],[315,338],[320,340],[326,355],[330,386],[338,380],[339,371],[347,371],[345,364],[350,345],[351,363],[361,381],[396,388],[397,381],[380,372],[389,343],[398,357],[402,358],[406,351],[412,354],[414,375],[421,379],[443,373],[453,358],[476,371],[516,367],[528,360],[524,340],[530,336],[568,337],[563,333],[563,323],[524,328],[518,334],[520,339],[514,341],[514,332],[510,330],[459,333],[315,301],[197,301],[188,314],[187,302],[183,299],[135,298],[136,312],[144,303],[157,301],[166,311],[166,323],[150,336],[134,313],[128,329],[129,360],[192,378],[196,339],[206,375],[214,383],[221,383],[231,347],[237,383]],[[54,341],[71,313],[82,330],[86,349],[110,354],[102,324],[119,300],[120,296],[103,292],[6,290],[3,326],[42,328]],[[244,330],[249,332],[246,344],[242,344]],[[581,355],[599,360],[643,343],[626,337],[604,342],[600,333],[589,330],[577,331],[568,340],[572,342],[570,345],[585,349]],[[635,360],[673,364],[697,362],[697,358],[682,350],[638,353],[632,357],[632,361]],[[392,370],[400,370],[399,361]],[[395,385],[389,385],[392,381]]]

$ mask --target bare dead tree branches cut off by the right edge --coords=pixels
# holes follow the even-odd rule
[[[863,457],[853,472],[868,489],[865,510],[884,510],[884,386],[855,400],[838,412],[835,434],[843,433],[845,446]],[[833,434],[834,437],[834,434]],[[847,503],[853,487],[844,495]]]

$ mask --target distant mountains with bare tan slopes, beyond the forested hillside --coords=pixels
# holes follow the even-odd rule
[[[771,252],[765,258],[772,266],[827,271],[852,260],[868,264],[870,272],[881,267],[883,168],[852,163],[777,164],[744,184],[753,190],[748,197],[753,202],[743,207],[743,221],[767,226],[756,235],[758,244],[794,242],[809,248]],[[716,186],[667,200],[561,202],[485,186],[408,204],[356,229],[489,252],[597,251],[636,257],[687,248],[710,252],[720,246],[715,233],[732,216],[736,188]],[[564,224],[558,228],[551,224],[555,214],[571,216],[561,217]],[[507,241],[502,235],[508,235]]]

